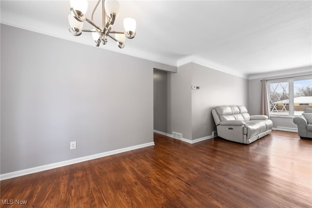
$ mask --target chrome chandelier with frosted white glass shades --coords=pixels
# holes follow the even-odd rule
[[[102,1],[102,25],[98,26],[98,24],[93,21],[93,16],[100,1]],[[123,20],[125,31],[112,30],[112,26],[119,11],[119,3],[117,0],[98,0],[93,9],[91,20],[85,16],[88,9],[87,0],[70,0],[70,5],[71,14],[68,15],[68,21],[71,28],[69,32],[74,36],[79,36],[82,32],[91,32],[97,47],[100,43],[105,45],[107,43],[107,37],[110,37],[117,42],[119,48],[123,48],[126,38],[133,39],[136,36],[135,30],[137,23],[132,18],[125,18]],[[94,29],[82,29],[84,21],[90,23]],[[112,34],[115,34],[115,36],[112,36]]]

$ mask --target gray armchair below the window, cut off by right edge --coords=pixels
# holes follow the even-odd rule
[[[312,114],[312,108],[304,108],[303,113]],[[312,138],[312,123],[303,115],[294,117],[292,121],[298,126],[298,134],[301,139]]]

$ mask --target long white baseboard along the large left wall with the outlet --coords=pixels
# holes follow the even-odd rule
[[[49,164],[49,165],[32,167],[32,168],[24,169],[24,170],[18,170],[18,171],[15,171],[15,172],[4,173],[4,174],[0,175],[0,181],[6,180],[6,179],[10,179],[10,178],[19,177],[19,176],[23,176],[23,175],[28,175],[28,174],[32,174],[32,173],[37,173],[37,172],[44,171],[44,170],[50,170],[50,169],[54,169],[54,168],[57,168],[57,167],[62,167],[62,166],[68,166],[68,165],[76,164],[76,163],[81,163],[81,162],[88,161],[88,160],[94,160],[94,159],[97,159],[97,158],[106,157],[106,156],[109,156],[109,155],[114,155],[114,154],[118,154],[118,153],[122,153],[122,152],[127,152],[127,151],[131,151],[131,150],[135,150],[135,149],[139,149],[139,148],[143,148],[143,147],[147,147],[147,146],[154,146],[154,145],[155,145],[154,142],[150,142],[150,143],[146,143],[146,144],[142,144],[142,145],[129,146],[129,147],[116,149],[116,150],[112,150],[112,151],[108,151],[108,152],[102,152],[102,153],[99,153],[99,154],[94,154],[94,155],[89,155],[89,156],[85,156],[85,157],[75,158],[75,159],[72,159],[72,160],[66,160],[66,161],[62,161],[62,162],[59,162],[59,163],[53,163],[53,164]]]

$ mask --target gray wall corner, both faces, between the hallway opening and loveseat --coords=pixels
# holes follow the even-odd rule
[[[192,85],[200,89],[192,89]],[[169,87],[171,122],[166,133],[182,133],[185,139],[212,135],[215,122],[211,110],[215,106],[248,107],[248,80],[196,63],[179,66],[178,73],[170,73]]]

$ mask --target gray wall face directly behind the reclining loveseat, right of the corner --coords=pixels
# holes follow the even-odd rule
[[[192,85],[200,87],[192,90],[192,140],[210,136],[215,131],[215,121],[211,114],[215,106],[248,107],[246,79],[192,63]]]

